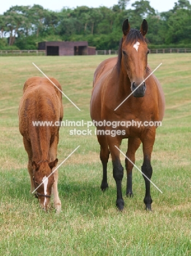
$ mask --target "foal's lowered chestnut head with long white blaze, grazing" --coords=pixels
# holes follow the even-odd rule
[[[47,161],[40,161],[37,164],[34,161],[32,162],[34,188],[37,188],[35,196],[38,197],[40,207],[45,211],[50,206],[51,189],[55,182],[51,173],[52,168],[56,167],[57,162],[57,158],[50,163]]]

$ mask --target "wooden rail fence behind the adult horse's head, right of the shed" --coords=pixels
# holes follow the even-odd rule
[[[114,50],[97,50],[96,55],[111,55],[116,54],[118,51]],[[159,53],[191,53],[191,48],[168,48],[168,49],[150,49],[150,53],[159,54]]]

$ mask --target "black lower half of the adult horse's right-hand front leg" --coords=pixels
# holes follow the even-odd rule
[[[152,166],[150,160],[144,160],[144,164],[141,167],[142,173],[148,177],[148,179],[151,179],[152,177]],[[145,179],[145,198],[144,203],[146,206],[146,210],[151,211],[151,204],[152,204],[152,198],[151,198],[151,191],[150,191],[150,181],[143,175]]]

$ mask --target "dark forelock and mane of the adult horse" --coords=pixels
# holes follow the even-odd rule
[[[135,28],[131,28],[127,37],[126,37],[126,43],[127,44],[133,44],[136,42],[146,42],[148,43],[148,40],[142,36],[139,30],[135,30]],[[120,73],[121,70],[121,59],[122,59],[122,43],[123,43],[123,38],[120,40],[120,45],[118,49],[118,59],[117,59],[117,71]]]

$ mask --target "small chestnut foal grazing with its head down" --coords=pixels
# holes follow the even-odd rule
[[[61,85],[55,78],[50,80],[60,89]],[[42,77],[29,78],[23,86],[23,96],[19,106],[19,130],[23,136],[23,144],[28,154],[28,172],[31,177],[31,193],[37,188],[35,196],[40,207],[48,210],[51,191],[53,204],[57,212],[61,211],[58,196],[57,144],[59,126],[37,126],[35,121],[62,121],[62,93],[47,79]],[[48,176],[50,177],[46,179]]]

